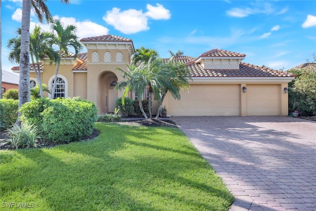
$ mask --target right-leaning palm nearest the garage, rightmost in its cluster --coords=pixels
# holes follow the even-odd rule
[[[165,86],[160,89],[161,100],[156,118],[160,115],[162,102],[167,92],[169,91],[174,99],[180,99],[180,87],[183,90],[186,88],[189,89],[190,84],[188,80],[192,80],[188,66],[182,62],[175,61],[174,56],[164,63],[164,68],[164,72],[167,73],[167,75],[165,75],[167,82]]]

